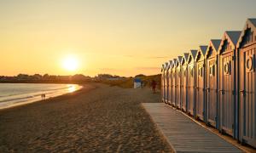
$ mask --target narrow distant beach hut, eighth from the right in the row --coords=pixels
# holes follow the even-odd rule
[[[176,62],[177,59],[172,59],[171,71],[172,71],[172,85],[171,85],[171,105],[175,106],[176,102],[176,82],[177,82],[177,75],[176,75]]]

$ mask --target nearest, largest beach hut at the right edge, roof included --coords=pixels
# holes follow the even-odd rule
[[[240,140],[256,147],[256,19],[248,19],[236,44],[240,99]]]

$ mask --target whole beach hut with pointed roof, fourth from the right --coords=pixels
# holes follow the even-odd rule
[[[205,55],[207,46],[200,46],[195,55],[195,118],[205,120]]]

